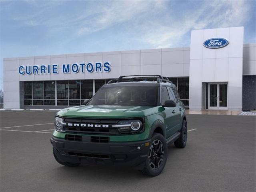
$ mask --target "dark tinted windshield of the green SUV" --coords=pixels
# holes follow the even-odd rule
[[[88,105],[157,106],[157,86],[102,87]]]

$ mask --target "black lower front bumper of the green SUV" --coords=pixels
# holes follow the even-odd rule
[[[94,143],[51,138],[54,153],[61,162],[129,166],[142,169],[148,157],[150,140]]]

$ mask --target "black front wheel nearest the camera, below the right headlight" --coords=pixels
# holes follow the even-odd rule
[[[168,156],[168,148],[166,139],[161,134],[154,134],[151,140],[151,145],[148,151],[148,158],[146,159],[142,173],[148,176],[159,175],[166,164]]]

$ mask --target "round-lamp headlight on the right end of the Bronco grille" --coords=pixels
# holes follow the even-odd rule
[[[143,128],[140,120],[123,120],[116,125],[112,125],[112,127],[118,128],[121,133],[140,132]]]

